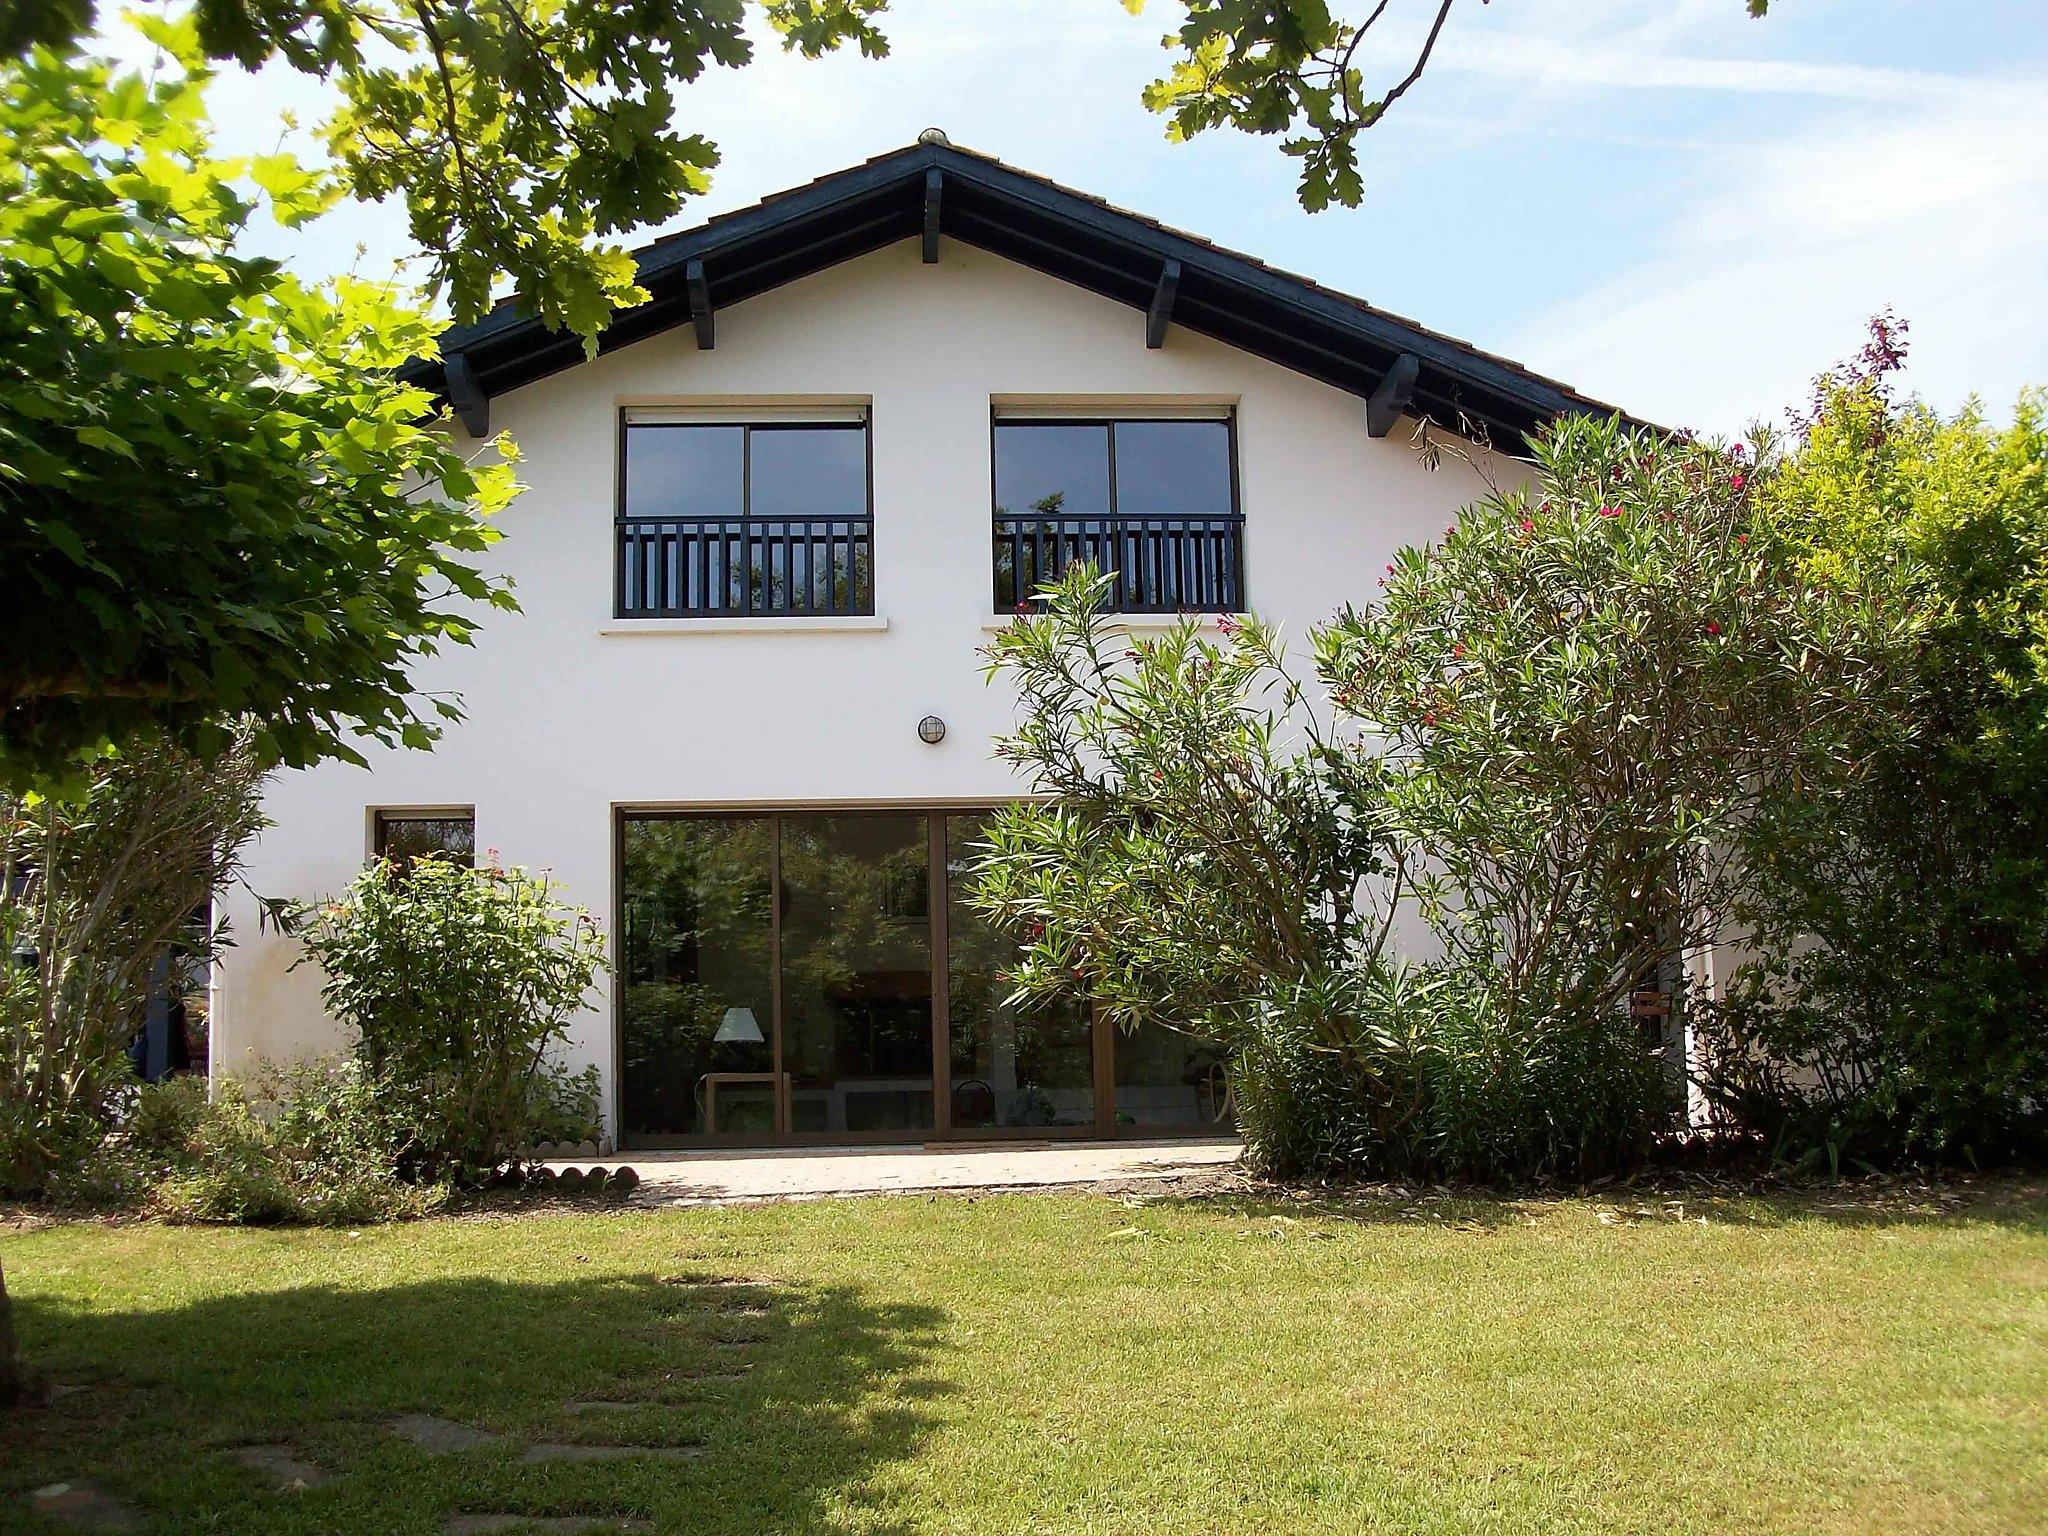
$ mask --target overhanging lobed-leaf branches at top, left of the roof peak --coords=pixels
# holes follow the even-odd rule
[[[786,49],[844,43],[881,57],[885,0],[768,0]],[[33,6],[31,6],[33,10]],[[672,127],[676,86],[754,55],[741,0],[197,0],[178,12],[207,59],[283,63],[340,106],[319,127],[340,184],[397,199],[457,319],[500,276],[549,326],[596,344],[610,311],[645,297],[608,236],[676,215],[717,147]],[[0,51],[76,47],[90,0],[0,27]]]

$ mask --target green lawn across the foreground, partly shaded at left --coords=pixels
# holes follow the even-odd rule
[[[92,1389],[0,1421],[0,1530],[90,1477],[180,1532],[2048,1532],[2048,1184],[1964,1196],[51,1227],[8,1284]],[[573,1440],[702,1454],[516,1464]]]

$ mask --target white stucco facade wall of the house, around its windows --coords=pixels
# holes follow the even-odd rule
[[[225,897],[236,946],[215,979],[213,1063],[332,1051],[297,946],[260,932],[252,893],[338,891],[369,850],[375,807],[475,807],[477,846],[547,866],[610,926],[621,805],[944,803],[1016,793],[989,739],[1010,698],[983,684],[989,612],[991,399],[1104,410],[1161,401],[1237,410],[1251,606],[1292,637],[1376,590],[1391,553],[1442,532],[1485,494],[1458,457],[1427,469],[1409,424],[1368,438],[1364,401],[1171,330],[1028,268],[915,242],[719,311],[717,348],[688,328],[492,401],[528,485],[487,563],[524,608],[475,649],[418,674],[461,694],[432,752],[377,752],[279,776],[272,827]],[[874,608],[885,627],[772,633],[612,621],[618,412],[627,406],[864,401],[872,412]],[[1513,467],[1489,461],[1489,473]],[[942,745],[915,723],[940,715]],[[573,1065],[612,1069],[610,995],[573,1032]],[[606,1081],[610,1110],[614,1085]]]

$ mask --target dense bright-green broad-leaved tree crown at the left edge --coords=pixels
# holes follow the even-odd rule
[[[233,717],[264,762],[424,745],[408,668],[512,606],[465,559],[512,467],[389,373],[432,319],[236,254],[330,190],[213,158],[188,29],[154,35],[186,68],[0,61],[0,782]]]

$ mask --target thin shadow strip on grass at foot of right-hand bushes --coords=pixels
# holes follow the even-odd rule
[[[1450,1227],[1511,1227],[1561,1206],[1583,1206],[1614,1225],[1700,1221],[1784,1227],[1825,1221],[1839,1227],[1939,1227],[1989,1223],[2048,1231],[2048,1176],[1987,1174],[1956,1180],[1778,1182],[1651,1178],[1597,1190],[1489,1190],[1481,1186],[1397,1188],[1266,1186],[1251,1192],[1163,1196],[1178,1206],[1239,1221]]]

